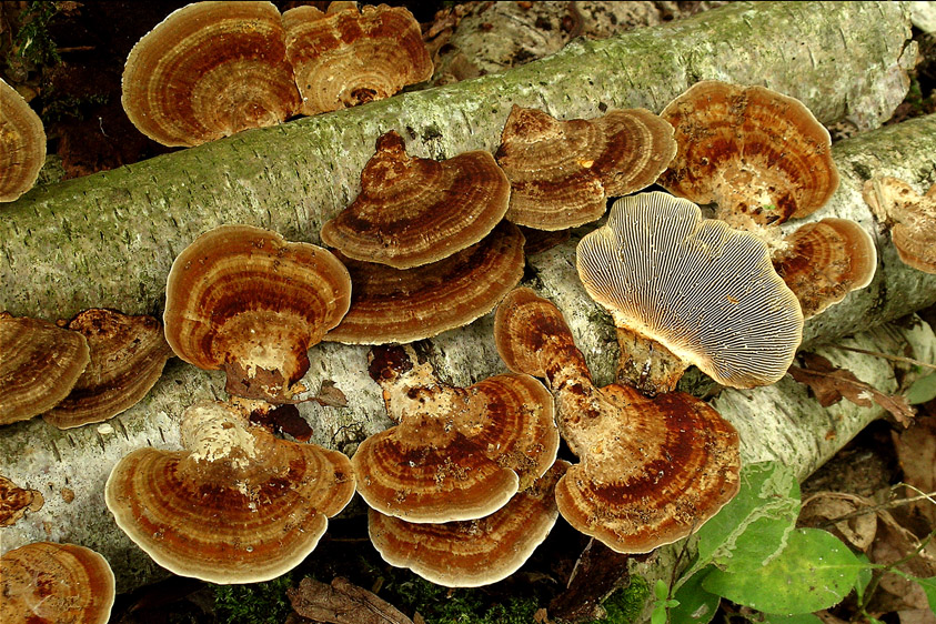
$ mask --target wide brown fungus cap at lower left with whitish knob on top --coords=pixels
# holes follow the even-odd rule
[[[104,487],[117,524],[158,564],[211,583],[266,581],[311,553],[354,494],[346,456],[279,440],[223,403],[182,416],[187,451],[139,449]]]

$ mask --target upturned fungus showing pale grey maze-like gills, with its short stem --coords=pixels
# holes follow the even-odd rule
[[[618,379],[668,392],[691,364],[716,382],[779,380],[803,335],[796,295],[766,243],[654,191],[615,202],[578,243],[578,276],[614,319]]]

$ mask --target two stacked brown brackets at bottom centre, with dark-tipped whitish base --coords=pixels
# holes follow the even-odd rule
[[[370,373],[399,423],[352,459],[383,557],[449,586],[514,572],[556,519],[563,465],[548,391],[513,373],[453,388],[410,346],[374,348]]]

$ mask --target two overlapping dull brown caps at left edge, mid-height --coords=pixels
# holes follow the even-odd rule
[[[53,324],[0,313],[0,424],[108,420],[155,385],[172,355],[151,316],[91,309]]]

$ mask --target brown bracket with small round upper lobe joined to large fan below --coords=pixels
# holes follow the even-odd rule
[[[556,397],[560,431],[581,460],[556,484],[556,504],[582,533],[646,553],[685,537],[737,493],[731,423],[683,392],[595,388],[552,302],[513,291],[497,308],[494,338],[511,370],[546,378]]]

